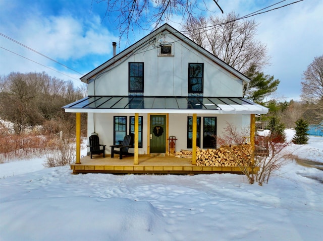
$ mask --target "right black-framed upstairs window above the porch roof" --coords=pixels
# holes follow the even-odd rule
[[[203,63],[188,64],[188,93],[203,93]]]

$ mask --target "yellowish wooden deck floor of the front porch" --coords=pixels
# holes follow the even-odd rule
[[[94,155],[81,158],[81,164],[71,164],[73,174],[79,173],[113,173],[113,174],[242,174],[239,167],[198,167],[192,165],[191,158],[176,156],[139,155],[139,165],[134,165],[133,156],[119,159],[119,155],[111,158],[110,154]]]

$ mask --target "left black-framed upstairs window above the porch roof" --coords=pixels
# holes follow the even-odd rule
[[[142,62],[129,62],[129,92],[143,93]]]

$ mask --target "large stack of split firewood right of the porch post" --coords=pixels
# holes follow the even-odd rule
[[[197,149],[196,165],[209,167],[239,167],[252,161],[251,144],[222,146],[218,149]]]

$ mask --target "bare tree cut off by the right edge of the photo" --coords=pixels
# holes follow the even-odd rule
[[[302,99],[312,103],[317,122],[323,120],[323,55],[315,57],[303,72]]]

